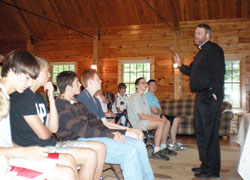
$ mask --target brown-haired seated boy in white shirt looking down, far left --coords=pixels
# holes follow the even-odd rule
[[[9,162],[2,157],[3,164],[1,164],[5,166],[5,170],[2,171],[1,179],[15,180],[33,174],[33,178],[41,180],[46,178],[48,180],[75,180],[76,164],[71,155],[49,154],[47,148],[16,147],[12,144],[10,119],[7,115],[9,94],[14,91],[23,92],[31,84],[32,78],[38,76],[39,70],[40,67],[35,57],[26,50],[11,51],[4,61],[0,79],[1,101],[4,101],[0,103],[2,113],[0,155],[7,158]]]

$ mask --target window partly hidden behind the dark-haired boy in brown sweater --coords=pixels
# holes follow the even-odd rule
[[[56,84],[56,77],[62,71],[75,71],[74,62],[50,63],[51,77],[53,84]]]

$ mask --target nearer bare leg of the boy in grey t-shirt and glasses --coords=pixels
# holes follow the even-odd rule
[[[160,143],[161,143],[162,137],[163,137],[163,131],[164,131],[164,128],[166,126],[165,124],[166,124],[166,122],[164,122],[164,121],[159,121],[159,120],[150,121],[149,120],[147,130],[156,129],[155,130],[155,140],[154,140],[155,147],[160,147]]]

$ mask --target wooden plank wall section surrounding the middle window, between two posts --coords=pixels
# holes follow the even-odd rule
[[[103,61],[103,89],[117,92],[120,82],[121,60],[147,60],[154,64],[154,77],[157,80],[157,96],[161,99],[174,97],[174,70],[172,55],[176,48],[176,35],[165,24],[140,25],[106,28],[101,36]]]

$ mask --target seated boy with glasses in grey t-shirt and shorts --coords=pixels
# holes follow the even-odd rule
[[[152,158],[169,160],[168,155],[177,153],[167,148],[167,138],[169,134],[170,122],[165,117],[151,113],[147,98],[144,92],[147,89],[147,83],[144,78],[138,78],[135,81],[136,93],[128,100],[128,118],[133,127],[140,128],[143,131],[156,129],[154,139],[154,152]]]

